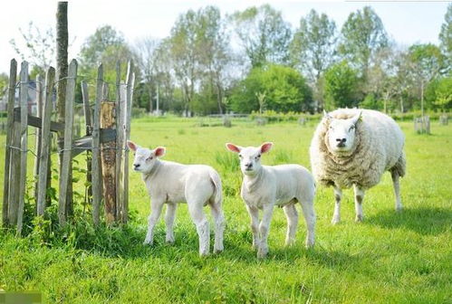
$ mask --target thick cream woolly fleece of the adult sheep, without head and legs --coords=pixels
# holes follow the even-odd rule
[[[327,132],[329,121],[323,118],[311,142],[313,176],[322,185],[349,188],[356,184],[369,189],[380,182],[389,170],[405,175],[403,152],[405,137],[399,125],[389,116],[370,109],[336,109],[329,115],[334,119],[351,119],[362,110],[356,124],[356,137],[350,152],[331,152]]]

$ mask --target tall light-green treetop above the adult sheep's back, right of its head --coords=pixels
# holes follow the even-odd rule
[[[378,14],[370,6],[351,13],[341,29],[339,52],[353,62],[364,79],[374,52],[388,44],[387,33]]]

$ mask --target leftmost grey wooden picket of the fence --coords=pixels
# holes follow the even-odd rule
[[[8,88],[8,106],[6,120],[6,143],[5,143],[5,176],[3,184],[3,206],[2,206],[2,223],[6,227],[8,222],[9,209],[9,182],[10,182],[10,164],[11,164],[11,148],[13,140],[14,127],[14,96],[15,81],[17,78],[17,62],[13,59],[9,69],[9,88]]]

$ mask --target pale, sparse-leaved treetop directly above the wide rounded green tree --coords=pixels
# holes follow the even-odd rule
[[[252,6],[233,14],[231,20],[253,68],[288,61],[292,31],[281,12],[270,5]]]

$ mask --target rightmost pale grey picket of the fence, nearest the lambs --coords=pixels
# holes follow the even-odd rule
[[[135,75],[132,72],[133,63],[129,61],[127,67],[127,78],[126,78],[126,112],[124,119],[124,142],[130,139],[130,114],[132,109],[132,90],[135,81]],[[122,199],[122,222],[127,223],[129,219],[129,147],[124,145],[124,170],[123,170],[123,186],[124,186],[124,197]]]

